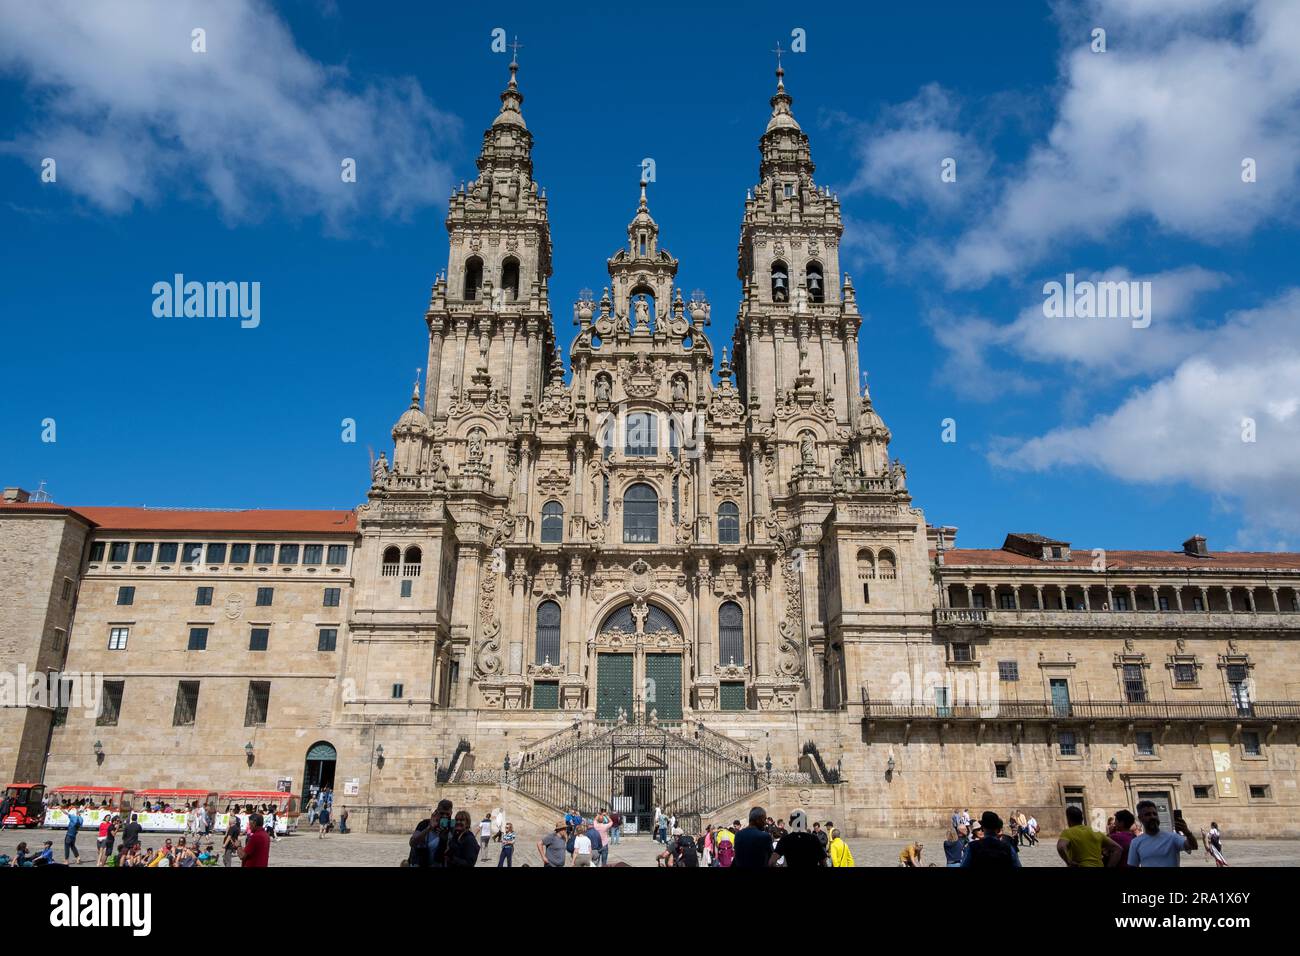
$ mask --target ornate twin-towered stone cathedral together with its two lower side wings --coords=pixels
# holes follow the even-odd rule
[[[930,525],[780,70],[729,346],[642,183],[566,378],[516,69],[448,203],[425,381],[354,512],[0,506],[5,662],[108,688],[3,711],[5,771],[329,784],[377,830],[445,793],[864,834],[1147,796],[1295,835],[1300,555],[963,550]]]

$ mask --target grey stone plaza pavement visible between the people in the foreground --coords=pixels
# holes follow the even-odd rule
[[[515,865],[538,866],[537,840],[541,832],[525,829],[520,832],[515,849]],[[176,839],[178,834],[172,834]],[[162,838],[165,839],[165,836]],[[0,831],[0,852],[13,855],[20,840],[29,847],[40,847],[44,840],[53,840],[55,858],[62,860],[62,831],[57,830],[4,830]],[[157,845],[159,838],[146,839],[144,845]],[[926,845],[924,862],[942,861],[942,836],[923,835]],[[220,840],[214,840],[220,845]],[[95,836],[82,834],[77,845],[86,860],[83,866],[95,865]],[[855,838],[849,840],[858,866],[897,866],[898,851],[904,840],[871,840]],[[662,848],[649,836],[629,836],[610,848],[610,862],[623,861],[629,866],[654,866],[655,855]],[[1232,840],[1225,838],[1223,851],[1234,866],[1300,866],[1300,840]],[[480,866],[495,866],[500,853],[499,844],[491,844],[488,858],[480,857]],[[933,856],[931,856],[933,853]],[[280,839],[270,848],[272,866],[396,866],[407,855],[407,838],[398,834],[329,834],[324,839],[316,834],[292,834]],[[1056,853],[1056,839],[1040,839],[1037,847],[1026,847],[1020,852],[1024,866],[1062,866]],[[1204,852],[1196,851],[1183,857],[1184,866],[1213,866]]]

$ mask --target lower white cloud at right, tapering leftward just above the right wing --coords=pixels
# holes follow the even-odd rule
[[[1300,532],[1300,289],[1230,315],[1202,346],[1087,425],[1004,442],[992,460],[1180,481],[1236,502],[1248,540]],[[1253,442],[1243,441],[1247,419]]]

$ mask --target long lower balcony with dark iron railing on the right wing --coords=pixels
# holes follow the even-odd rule
[[[893,704],[863,697],[872,721],[1300,721],[1300,701],[987,701],[984,704]]]

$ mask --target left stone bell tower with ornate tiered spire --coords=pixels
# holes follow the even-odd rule
[[[555,351],[547,280],[546,193],[533,179],[533,134],[511,60],[500,112],[484,133],[478,178],[447,204],[447,271],[433,286],[425,411],[445,418],[472,392],[517,418],[540,401]]]

